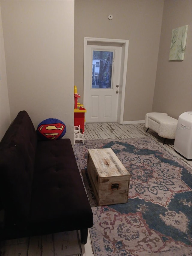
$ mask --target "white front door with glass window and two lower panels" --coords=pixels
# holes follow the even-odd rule
[[[86,46],[83,97],[86,122],[117,122],[121,55],[121,46]]]

